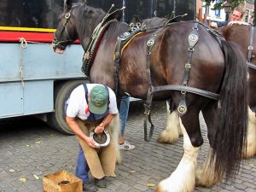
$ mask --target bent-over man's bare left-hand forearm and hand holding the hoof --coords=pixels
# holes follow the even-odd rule
[[[81,139],[83,139],[90,147],[96,148],[94,141],[87,137],[84,132],[80,129],[79,124],[76,122],[75,118],[66,116],[67,125],[71,128],[74,134]]]

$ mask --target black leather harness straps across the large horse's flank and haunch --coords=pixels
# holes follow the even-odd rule
[[[153,99],[153,93],[154,92],[158,92],[158,91],[162,91],[162,90],[180,90],[181,94],[182,94],[182,98],[181,101],[178,104],[177,107],[177,112],[180,115],[183,115],[187,112],[187,105],[186,105],[186,100],[185,100],[185,96],[186,96],[186,92],[190,92],[190,93],[194,93],[196,95],[200,95],[200,96],[205,96],[214,100],[218,100],[219,99],[219,95],[216,93],[212,93],[210,91],[207,90],[201,90],[195,87],[189,87],[188,86],[188,81],[189,81],[189,73],[190,73],[190,69],[191,69],[191,60],[192,60],[192,55],[194,53],[194,47],[195,44],[198,42],[198,22],[194,22],[194,26],[192,28],[192,32],[189,33],[189,37],[188,37],[188,41],[189,41],[189,55],[188,55],[188,60],[185,63],[185,69],[184,69],[184,73],[183,73],[183,85],[179,85],[179,84],[168,84],[168,85],[161,85],[161,86],[153,86],[152,85],[152,81],[151,81],[151,75],[150,75],[150,55],[151,55],[151,49],[154,46],[154,38],[156,37],[157,33],[160,32],[160,30],[162,30],[165,26],[169,25],[169,21],[167,21],[165,26],[160,27],[160,29],[158,29],[156,32],[154,32],[154,34],[151,35],[151,37],[149,38],[148,42],[147,42],[147,55],[148,55],[148,59],[147,59],[147,77],[148,77],[148,84],[149,84],[149,88],[148,88],[148,96],[147,96],[147,100],[144,103],[144,108],[145,108],[145,119],[144,119],[144,140],[145,141],[150,141],[152,135],[153,135],[153,131],[154,131],[154,125],[152,124],[151,121],[151,117],[150,117],[150,110],[151,110],[151,103],[152,103],[152,99]],[[211,30],[208,30],[209,32],[212,32]],[[218,38],[218,35],[216,33],[211,33],[215,38]],[[218,42],[220,43],[220,40],[218,39]],[[149,121],[149,123],[151,124],[150,126],[150,130],[149,130],[149,134],[147,131],[147,119]]]

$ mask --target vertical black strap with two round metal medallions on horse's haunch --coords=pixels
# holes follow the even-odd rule
[[[187,86],[189,82],[189,73],[191,69],[191,60],[192,60],[192,55],[194,53],[194,47],[195,44],[198,42],[198,22],[194,23],[194,26],[192,28],[192,32],[189,33],[188,41],[189,41],[189,55],[188,55],[188,60],[187,63],[185,64],[185,70],[183,74],[183,86]],[[180,115],[183,115],[187,113],[187,104],[186,104],[186,90],[182,90],[182,98],[181,101],[179,102],[177,106],[177,112]]]

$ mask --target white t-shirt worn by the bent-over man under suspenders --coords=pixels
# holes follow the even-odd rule
[[[86,84],[88,92],[96,86],[102,84]],[[103,86],[103,85],[102,85]],[[118,113],[119,110],[117,108],[116,97],[113,92],[108,87],[109,92],[109,104],[108,104],[108,113]],[[79,119],[86,120],[90,115],[90,111],[88,110],[88,104],[85,99],[84,85],[81,84],[77,88],[75,88],[68,100],[67,106],[67,116],[68,117],[79,117]]]

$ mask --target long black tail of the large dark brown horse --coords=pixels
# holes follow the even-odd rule
[[[215,173],[232,178],[241,163],[247,135],[247,68],[245,57],[232,42],[222,41],[225,59],[216,135],[213,144]]]

